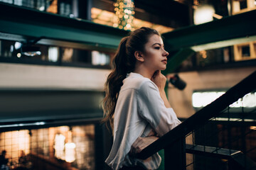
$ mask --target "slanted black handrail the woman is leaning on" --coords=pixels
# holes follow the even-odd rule
[[[217,117],[221,111],[230,106],[230,104],[238,101],[239,98],[245,96],[245,94],[250,93],[256,89],[256,71],[250,74],[248,77],[240,81],[240,83],[229,89],[223,96],[220,96],[208,106],[202,108],[200,111],[196,112],[190,118],[185,120],[183,123],[178,125],[173,130],[167,132],[164,136],[160,137],[151,145],[142,150],[137,157],[139,159],[146,159],[151,157],[151,155],[159,152],[159,150],[164,149],[174,142],[183,139],[193,130],[200,128],[204,125],[210,118]]]

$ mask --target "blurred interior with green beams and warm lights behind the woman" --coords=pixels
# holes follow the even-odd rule
[[[100,102],[121,38],[142,26],[161,33],[167,96],[186,121],[255,72],[255,19],[256,0],[0,0],[0,169],[109,169]],[[254,164],[255,108],[254,89],[186,144]],[[198,153],[187,151],[186,169],[237,164]]]

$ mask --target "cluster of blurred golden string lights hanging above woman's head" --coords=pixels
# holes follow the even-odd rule
[[[132,21],[134,19],[133,0],[117,0],[114,3],[114,24],[119,29],[132,30]]]

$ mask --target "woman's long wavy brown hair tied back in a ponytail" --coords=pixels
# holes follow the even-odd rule
[[[142,27],[134,30],[129,36],[122,38],[114,55],[112,63],[113,69],[107,77],[105,83],[105,98],[102,102],[104,111],[104,118],[102,122],[109,122],[113,130],[114,109],[117,104],[117,98],[122,86],[122,81],[127,77],[127,74],[134,71],[136,58],[134,53],[136,51],[144,52],[144,46],[149,41],[151,35],[159,35],[157,30],[152,28]]]

